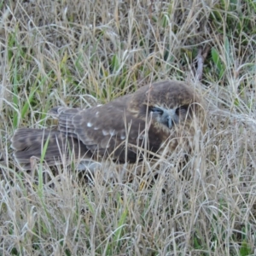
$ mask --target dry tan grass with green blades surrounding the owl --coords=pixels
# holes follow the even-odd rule
[[[256,254],[255,2],[2,0],[0,10],[1,255]],[[113,164],[90,183],[71,167],[15,166],[17,127],[161,79],[186,81],[207,102],[189,179],[178,152],[147,166],[147,177],[160,173],[152,187],[125,183]]]

